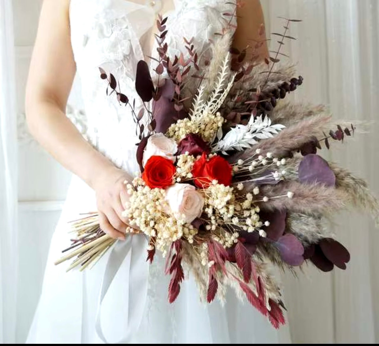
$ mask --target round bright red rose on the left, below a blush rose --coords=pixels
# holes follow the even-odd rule
[[[164,189],[172,185],[175,166],[171,160],[162,156],[152,156],[147,160],[142,179],[149,188]]]

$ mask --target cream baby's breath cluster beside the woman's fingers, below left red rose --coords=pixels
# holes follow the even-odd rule
[[[143,233],[155,238],[155,247],[166,254],[167,247],[182,237],[193,243],[193,236],[197,229],[186,224],[180,216],[170,216],[163,189],[150,189],[140,184],[139,178],[133,185],[127,184],[130,194],[129,202],[125,205],[124,216],[129,219],[130,225],[138,227]]]

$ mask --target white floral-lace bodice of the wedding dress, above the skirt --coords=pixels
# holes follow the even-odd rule
[[[153,53],[146,52],[140,39],[155,25],[162,1],[146,1],[146,5],[128,0],[70,3],[71,42],[87,116],[86,138],[130,174],[138,171],[136,127],[130,107],[120,106],[114,95],[106,96],[99,67],[116,76],[121,91],[135,99],[136,109],[142,106],[134,87],[136,66],[140,59],[157,53],[156,47]],[[174,0],[174,6],[162,13],[168,16],[169,56],[179,50],[188,54],[183,37],[193,37],[197,52],[207,54],[210,39],[225,26],[222,13],[233,12],[233,5],[226,0]],[[151,67],[155,67],[153,60]]]

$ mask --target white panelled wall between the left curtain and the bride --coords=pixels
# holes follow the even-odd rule
[[[58,1],[58,0],[56,0]],[[25,83],[42,0],[13,0],[19,131],[19,281],[17,342],[23,343],[42,285],[50,238],[71,174],[29,135],[25,125]]]

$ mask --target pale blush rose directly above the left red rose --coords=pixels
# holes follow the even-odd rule
[[[147,140],[146,148],[143,153],[142,164],[145,167],[147,160],[153,155],[162,156],[175,162],[175,153],[178,151],[178,146],[175,141],[167,138],[163,133],[156,133]]]

